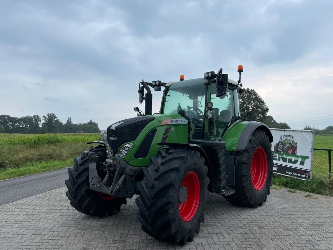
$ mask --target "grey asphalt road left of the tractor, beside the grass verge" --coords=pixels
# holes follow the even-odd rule
[[[0,181],[0,205],[65,186],[67,168]]]

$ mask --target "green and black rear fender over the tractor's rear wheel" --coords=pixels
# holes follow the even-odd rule
[[[246,148],[247,143],[254,130],[262,130],[269,137],[269,142],[273,141],[273,136],[266,124],[256,121],[237,121],[228,128],[223,135],[227,151],[242,151]]]

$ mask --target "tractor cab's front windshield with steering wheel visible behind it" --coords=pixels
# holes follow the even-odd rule
[[[206,87],[203,78],[173,83],[166,93],[164,114],[182,114],[189,120],[193,139],[202,138]]]

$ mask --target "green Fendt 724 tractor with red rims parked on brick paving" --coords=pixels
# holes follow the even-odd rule
[[[74,158],[65,182],[70,204],[103,217],[137,195],[142,229],[180,245],[199,233],[208,192],[261,206],[271,186],[273,137],[265,124],[240,116],[241,65],[238,72],[237,82],[222,68],[199,79],[142,80],[144,114],[134,108],[137,117],[110,125],[101,141],[88,142],[100,145]],[[151,88],[164,88],[158,114],[152,114]]]

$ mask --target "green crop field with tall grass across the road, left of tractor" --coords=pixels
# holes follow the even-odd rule
[[[0,134],[0,180],[69,167],[93,134]]]

